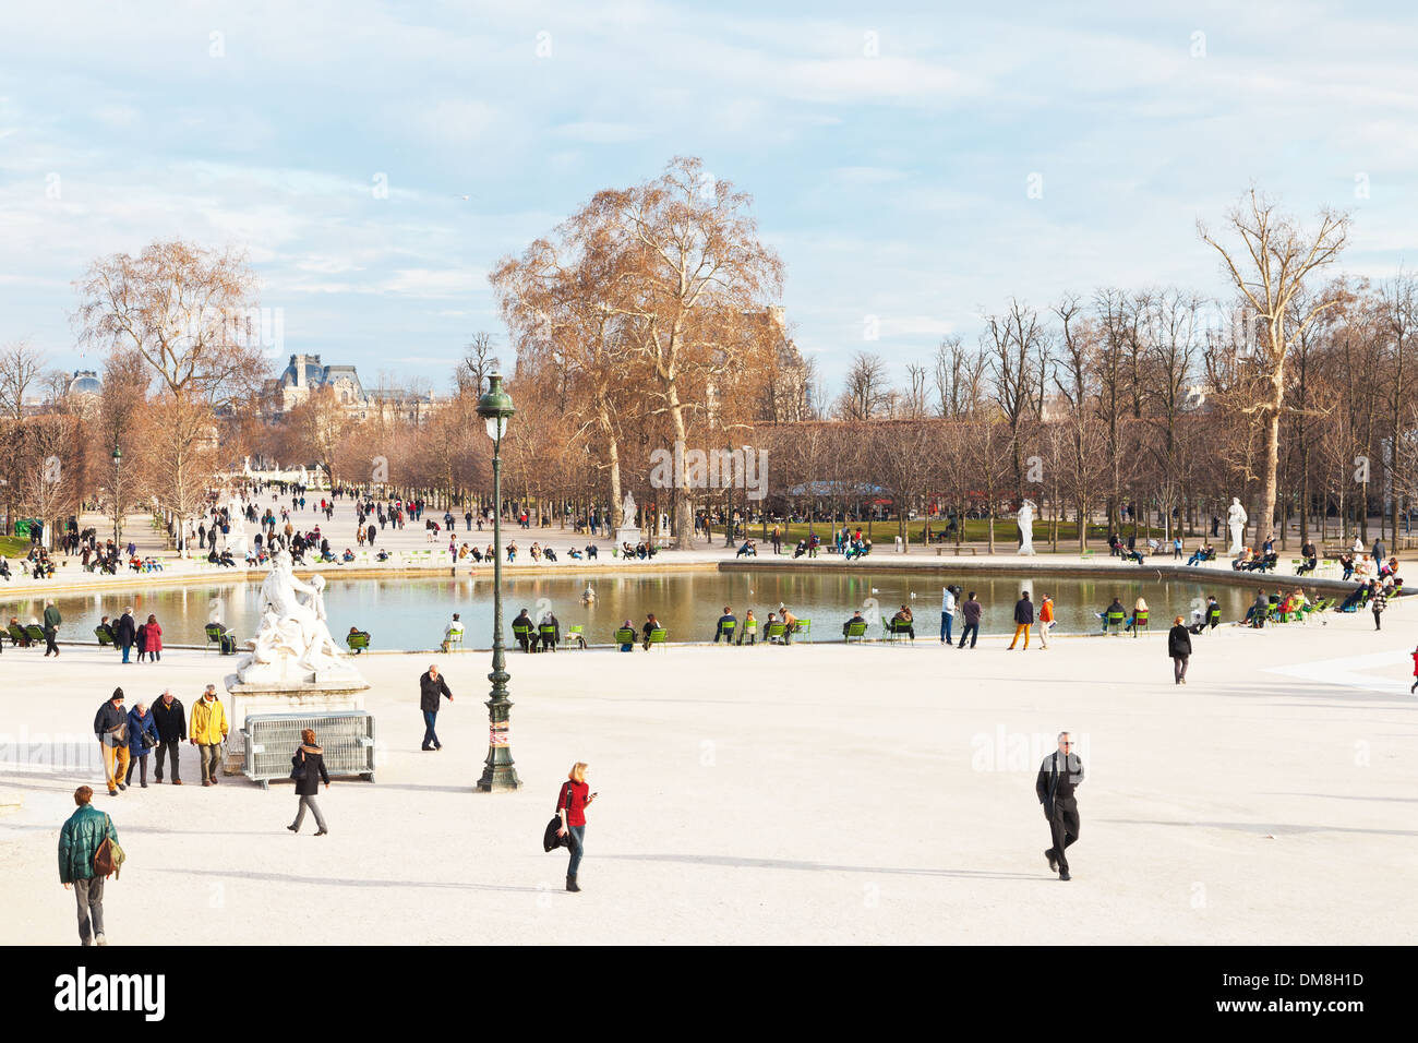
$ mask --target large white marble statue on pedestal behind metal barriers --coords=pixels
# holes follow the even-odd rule
[[[242,684],[363,683],[325,623],[325,576],[295,578],[291,555],[277,551],[261,583],[261,629],[237,663]]]

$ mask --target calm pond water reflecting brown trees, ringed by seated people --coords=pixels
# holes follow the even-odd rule
[[[832,569],[821,573],[803,572],[671,572],[607,575],[591,570],[583,576],[557,575],[545,579],[516,576],[506,580],[505,617],[510,639],[512,617],[523,607],[533,617],[550,607],[562,623],[562,631],[573,624],[586,627],[593,644],[610,643],[623,620],[630,619],[637,630],[645,613],[654,612],[669,630],[671,641],[709,640],[723,606],[729,605],[742,620],[746,609],[753,609],[763,633],[763,622],[778,605],[787,605],[793,614],[813,620],[811,640],[841,640],[842,622],[854,609],[872,622],[868,637],[881,636],[881,619],[889,619],[900,605],[909,605],[916,616],[917,639],[939,640],[940,589],[951,582],[966,590],[976,590],[984,605],[981,634],[1011,633],[1014,603],[1021,590],[1029,590],[1035,603],[1042,593],[1054,597],[1058,626],[1055,633],[1085,633],[1100,629],[1098,620],[1116,593],[1130,610],[1139,596],[1147,599],[1151,629],[1166,630],[1173,616],[1190,614],[1194,603],[1214,593],[1221,603],[1224,619],[1245,614],[1254,597],[1252,587],[1202,586],[1171,580],[1117,579],[1058,579],[995,573],[970,578],[949,575],[909,575],[902,572],[872,573],[868,569]],[[581,603],[581,592],[590,585],[597,595],[593,605]],[[1268,582],[1266,589],[1275,586]],[[129,587],[125,593],[94,592],[61,595],[54,599],[64,616],[60,640],[89,641],[99,617],[116,619],[125,605],[132,605],[135,617],[145,622],[157,616],[166,644],[203,644],[203,626],[208,619],[221,619],[240,640],[255,631],[258,622],[257,597],[259,583],[208,583],[186,587]],[[0,593],[3,597],[3,593]],[[462,614],[467,627],[467,647],[491,647],[492,643],[492,579],[491,578],[403,578],[347,579],[328,576],[325,603],[330,633],[337,641],[352,626],[372,634],[372,649],[435,649],[442,640],[444,626],[451,613]],[[4,597],[0,613],[9,623],[11,616],[27,623],[44,612],[44,599]],[[959,633],[959,616],[957,616]]]

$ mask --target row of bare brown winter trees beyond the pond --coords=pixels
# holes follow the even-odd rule
[[[778,512],[827,500],[993,517],[1032,498],[1049,519],[1117,529],[1132,505],[1170,531],[1239,495],[1259,542],[1283,538],[1290,518],[1302,535],[1323,535],[1332,515],[1364,529],[1374,505],[1391,532],[1412,500],[1418,281],[1327,272],[1344,214],[1303,228],[1252,192],[1225,234],[1198,226],[1231,282],[1219,301],[1183,288],[1102,288],[1045,308],[1011,299],[983,316],[977,343],[947,338],[908,360],[903,383],[858,352],[828,397],[774,305],[783,265],[750,207],[679,158],[498,263],[519,409],[503,444],[510,497],[613,517],[604,508],[634,490],[688,543],[698,508],[735,501],[688,473],[651,484],[651,454],[678,443],[767,448]],[[247,456],[485,502],[476,399],[498,368],[489,333],[434,410],[356,419],[320,389],[279,414],[240,255],[155,243],[96,261],[77,288],[79,339],[106,359],[96,413],[51,396],[48,413],[28,416],[27,389],[57,380],[26,346],[0,352],[0,416],[20,447],[0,468],[14,511],[50,517],[99,497],[115,509],[153,501],[182,521]],[[60,481],[44,470],[55,456]],[[756,504],[740,495],[737,509]]]

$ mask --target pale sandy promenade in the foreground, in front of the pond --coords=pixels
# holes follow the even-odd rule
[[[1227,627],[1197,639],[1184,688],[1164,634],[1028,653],[998,633],[974,651],[516,653],[526,788],[499,796],[472,792],[485,657],[364,656],[379,778],[322,796],[320,839],[285,830],[289,785],[193,785],[190,746],[187,785],[118,798],[91,768],[16,763],[55,736],[96,752],[89,725],[115,681],[130,702],[170,685],[190,707],[231,660],[7,649],[0,788],[23,805],[0,815],[0,942],[75,942],[54,849],[79,782],[129,854],[106,893],[115,945],[1027,944],[1059,924],[1072,942],[1409,942],[1415,622],[1398,602],[1381,633],[1367,613]],[[457,700],[445,749],[424,754],[431,660]],[[1071,883],[1045,866],[1032,790],[1061,728],[1088,769]],[[600,800],[573,895],[540,836],[579,759]]]

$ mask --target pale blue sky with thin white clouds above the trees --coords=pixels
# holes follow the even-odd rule
[[[245,251],[277,369],[445,389],[478,331],[510,362],[496,261],[676,155],[753,197],[830,392],[1014,297],[1225,297],[1195,223],[1251,184],[1349,210],[1343,270],[1411,265],[1418,17],[1139,7],[9,4],[0,343],[101,368],[74,282],[183,237]]]

